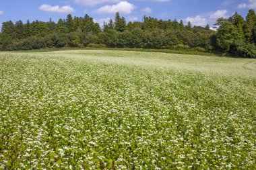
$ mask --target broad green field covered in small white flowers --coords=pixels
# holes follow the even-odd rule
[[[0,169],[256,169],[256,60],[0,52]]]

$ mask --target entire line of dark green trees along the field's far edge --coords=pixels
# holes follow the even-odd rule
[[[115,20],[101,28],[89,15],[59,19],[57,23],[38,20],[3,22],[0,50],[32,50],[39,48],[111,47],[196,50],[256,58],[256,15],[249,10],[244,19],[234,13],[216,21],[217,30],[173,21],[143,17],[143,22],[126,22],[117,12]]]

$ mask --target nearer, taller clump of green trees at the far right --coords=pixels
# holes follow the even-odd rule
[[[256,57],[256,15],[253,9],[249,10],[246,22],[241,15],[234,13],[229,19],[218,19],[216,25],[219,26],[218,32],[211,37],[215,49],[239,57]]]

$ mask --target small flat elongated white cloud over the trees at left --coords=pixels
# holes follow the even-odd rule
[[[70,13],[75,11],[75,9],[73,9],[73,7],[69,5],[60,7],[59,5],[51,6],[51,5],[44,4],[44,5],[41,5],[39,9],[42,11],[58,12],[58,13]]]

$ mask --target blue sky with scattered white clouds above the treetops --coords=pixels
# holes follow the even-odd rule
[[[211,26],[218,17],[228,17],[238,11],[245,17],[249,9],[256,9],[256,0],[3,0],[0,4],[0,23],[12,20],[57,22],[68,13],[86,13],[100,24],[120,11],[127,22],[141,21],[143,15],[158,19],[183,19],[193,25]]]

